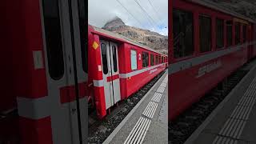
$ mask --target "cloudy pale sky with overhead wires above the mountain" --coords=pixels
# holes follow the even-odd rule
[[[88,5],[90,25],[102,27],[119,17],[128,26],[168,35],[168,0],[88,0]]]

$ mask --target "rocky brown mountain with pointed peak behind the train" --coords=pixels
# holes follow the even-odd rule
[[[168,54],[168,37],[150,30],[143,30],[133,26],[127,26],[121,18],[114,18],[106,22],[102,27],[116,34],[121,34],[135,42],[148,46],[154,50]]]

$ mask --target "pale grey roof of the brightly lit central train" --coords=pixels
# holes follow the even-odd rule
[[[113,32],[110,32],[108,30],[103,30],[103,29],[98,28],[96,26],[91,26],[91,27],[94,29],[94,33],[96,33],[96,34],[102,34],[103,36],[106,36],[108,38],[116,38],[118,41],[127,42],[127,43],[130,43],[130,44],[134,45],[134,46],[139,46],[139,47],[142,47],[142,48],[144,48],[146,50],[150,50],[150,51],[153,51],[155,53],[162,54],[162,53],[158,52],[157,50],[154,50],[154,49],[152,49],[152,48],[150,48],[148,46],[144,46],[144,45],[142,45],[142,44],[140,44],[138,42],[134,42],[130,38],[126,38],[125,36],[122,36],[121,34],[115,34]],[[166,54],[162,54],[162,55],[167,56]]]

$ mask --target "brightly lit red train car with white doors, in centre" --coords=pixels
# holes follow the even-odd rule
[[[99,118],[166,69],[167,56],[121,35],[89,26],[90,102]]]

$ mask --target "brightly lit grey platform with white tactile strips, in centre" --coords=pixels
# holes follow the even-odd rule
[[[103,144],[168,143],[167,74],[166,70]]]

